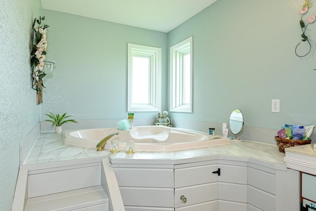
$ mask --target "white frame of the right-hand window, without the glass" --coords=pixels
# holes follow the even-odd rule
[[[190,103],[184,103],[183,57],[190,53]],[[193,37],[170,47],[170,111],[192,113]]]

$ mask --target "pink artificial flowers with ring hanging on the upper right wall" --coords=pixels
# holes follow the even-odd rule
[[[311,45],[311,42],[312,40],[309,40],[308,37],[305,35],[305,32],[306,32],[306,29],[307,29],[307,26],[311,23],[313,23],[316,19],[315,15],[311,15],[307,18],[307,25],[305,25],[304,21],[303,21],[303,15],[308,11],[309,8],[312,8],[312,4],[310,3],[310,0],[305,0],[305,3],[303,4],[303,7],[300,9],[300,14],[302,15],[301,16],[301,20],[300,20],[300,26],[301,26],[301,30],[303,32],[303,34],[301,35],[301,37],[303,38],[302,41],[300,41],[296,47],[295,47],[295,54],[298,56],[298,57],[304,57],[304,56],[307,56],[310,52],[311,52],[311,49],[312,49],[312,45]],[[301,44],[301,43],[308,43],[309,44],[309,51],[304,54],[304,55],[299,55],[297,53],[297,47]],[[312,41],[314,42],[314,41]],[[315,42],[314,42],[315,43]],[[314,49],[314,52],[315,52],[315,49]],[[314,53],[313,53],[314,55]]]

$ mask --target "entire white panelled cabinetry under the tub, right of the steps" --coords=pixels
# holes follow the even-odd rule
[[[126,211],[299,210],[298,171],[229,159],[112,165]]]

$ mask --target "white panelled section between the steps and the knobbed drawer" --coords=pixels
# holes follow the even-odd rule
[[[173,211],[173,165],[113,164],[126,211]]]

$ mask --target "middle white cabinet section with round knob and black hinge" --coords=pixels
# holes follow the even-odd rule
[[[245,162],[215,160],[174,168],[175,211],[246,210]]]

